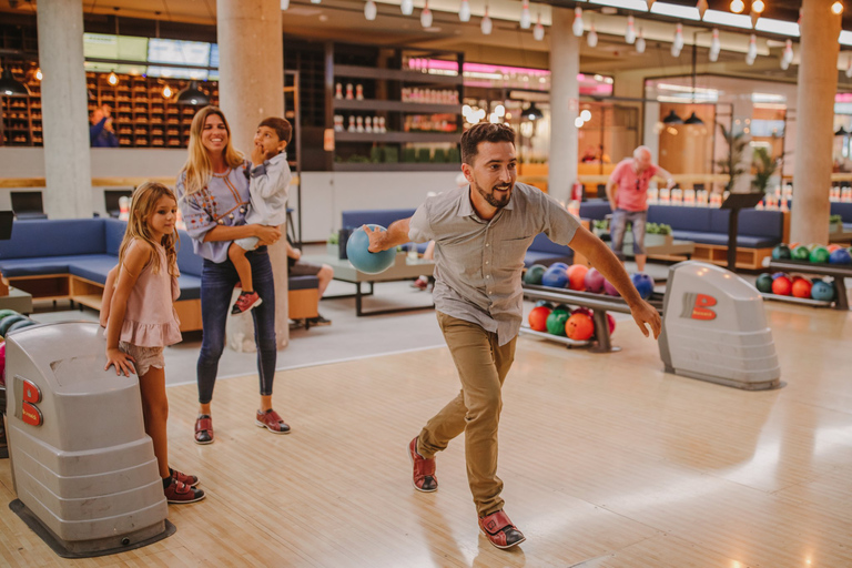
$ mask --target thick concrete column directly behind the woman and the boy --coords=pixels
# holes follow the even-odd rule
[[[257,124],[266,116],[284,116],[281,2],[216,0],[216,14],[220,105],[231,126],[232,143],[248,158]],[[270,246],[270,257],[275,275],[275,333],[282,348],[290,341],[284,239]],[[251,317],[240,320],[244,335],[252,337]]]

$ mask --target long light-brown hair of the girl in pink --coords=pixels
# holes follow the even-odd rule
[[[151,255],[145,263],[145,266],[152,264],[152,272],[158,274],[160,272],[160,258],[156,253],[155,244],[160,244],[165,248],[165,263],[169,267],[169,274],[178,276],[178,231],[173,231],[172,234],[163,235],[163,239],[156,243],[151,235],[151,227],[148,226],[148,220],[154,212],[156,202],[161,197],[171,197],[174,200],[175,205],[178,203],[174,192],[156,182],[145,182],[133,192],[133,201],[130,203],[130,219],[128,219],[128,229],[124,231],[124,239],[121,241],[121,247],[119,248],[119,272],[124,264],[124,255],[128,252],[130,243],[134,239],[144,241],[151,246]]]

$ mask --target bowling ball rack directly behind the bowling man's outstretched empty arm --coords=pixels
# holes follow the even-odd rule
[[[612,345],[612,338],[609,334],[609,322],[607,322],[607,312],[629,314],[630,306],[621,297],[595,294],[592,292],[579,292],[576,290],[554,288],[550,286],[538,286],[524,284],[524,297],[527,300],[544,300],[555,304],[568,304],[571,306],[588,307],[594,312],[596,341],[578,342],[568,337],[559,337],[545,332],[536,332],[528,327],[521,327],[521,333],[534,335],[544,339],[561,343],[568,347],[590,346],[591,353],[613,353],[621,351],[621,347]],[[662,305],[666,294],[655,292],[647,301],[662,315]]]

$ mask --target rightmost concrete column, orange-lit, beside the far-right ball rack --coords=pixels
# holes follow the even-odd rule
[[[804,0],[797,88],[793,209],[790,240],[829,242],[829,189],[834,142],[834,94],[838,91],[840,16],[825,0]]]

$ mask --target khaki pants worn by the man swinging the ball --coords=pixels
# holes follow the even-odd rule
[[[425,458],[445,449],[465,433],[467,480],[480,517],[503,509],[503,481],[497,477],[497,426],[500,422],[503,381],[515,359],[513,338],[497,344],[497,334],[481,326],[437,312],[462,392],[419,434],[417,452]]]

